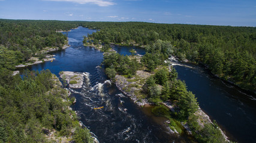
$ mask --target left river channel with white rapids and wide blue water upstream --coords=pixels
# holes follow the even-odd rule
[[[170,135],[162,125],[153,122],[143,114],[128,97],[125,97],[106,79],[100,64],[103,53],[83,46],[83,36],[96,32],[83,27],[68,32],[71,45],[62,51],[53,52],[56,60],[29,67],[29,70],[46,70],[59,76],[60,71],[78,71],[88,75],[82,89],[71,89],[76,104],[71,107],[80,116],[83,125],[88,127],[100,142],[188,142],[183,137]],[[129,47],[131,48],[131,47]],[[116,48],[121,54],[130,54],[129,48]],[[143,54],[141,48],[138,54]],[[141,52],[140,52],[141,51]],[[95,107],[104,106],[101,110]],[[125,108],[127,109],[125,111]]]

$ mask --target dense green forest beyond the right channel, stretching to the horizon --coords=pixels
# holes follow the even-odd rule
[[[104,43],[170,42],[173,45],[171,54],[180,60],[202,63],[225,80],[245,89],[256,89],[256,27],[140,22],[85,22],[83,26],[100,29],[88,36]]]

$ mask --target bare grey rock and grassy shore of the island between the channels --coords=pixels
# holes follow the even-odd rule
[[[131,57],[130,57],[131,58]],[[138,57],[140,58],[140,57]],[[140,60],[139,60],[140,61]],[[128,78],[127,76],[124,75],[116,75],[115,76],[115,84],[118,87],[118,89],[120,91],[122,91],[125,95],[127,95],[129,98],[131,98],[131,100],[139,105],[139,106],[144,106],[144,105],[152,105],[152,102],[149,102],[147,100],[147,98],[149,98],[149,95],[146,95],[145,92],[143,91],[143,86],[146,83],[146,80],[150,77],[155,75],[156,72],[158,72],[159,70],[161,70],[162,66],[156,68],[156,71],[154,72],[148,72],[145,70],[137,70],[136,74],[131,77]],[[171,67],[168,68],[168,70],[171,72],[171,69],[173,69]],[[159,85],[158,85],[159,86]],[[160,89],[162,89],[162,86],[159,86]],[[163,104],[165,105],[165,107],[168,108],[168,110],[170,110],[173,114],[171,116],[174,116],[174,114],[177,114],[179,112],[179,107],[177,106],[177,101],[165,101],[165,102],[159,102],[158,104]],[[189,123],[191,122],[190,119],[186,122],[181,122],[179,120],[175,120],[172,119],[173,117],[171,117],[170,115],[165,115],[166,117],[168,116],[167,119],[169,119],[169,121],[167,122],[167,127],[168,130],[173,130],[171,133],[176,133],[176,134],[180,134],[182,133],[182,130],[186,130],[186,134],[187,135],[194,135],[191,130],[191,128],[189,128]],[[197,111],[195,111],[194,116],[197,118],[197,120],[195,120],[195,122],[197,122],[198,127],[197,129],[204,129],[204,127],[206,126],[215,126],[215,124],[213,124],[213,122],[210,120],[209,116],[207,116],[206,113],[204,113],[204,111],[201,110],[200,107],[198,107]],[[174,116],[175,117],[175,116]],[[175,117],[176,118],[176,117]],[[175,123],[176,122],[176,123]],[[180,128],[180,126],[183,126],[182,128]],[[194,127],[193,127],[194,128]],[[227,138],[227,136],[224,134],[224,132],[219,128],[219,132],[221,132],[221,136],[224,139],[224,141],[230,142]],[[178,130],[178,131],[177,131]]]

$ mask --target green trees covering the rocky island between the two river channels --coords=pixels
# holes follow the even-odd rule
[[[146,46],[146,54],[141,57],[140,63],[134,55],[128,57],[110,51],[104,53],[103,64],[107,76],[113,81],[116,74],[131,78],[136,76],[137,70],[146,66],[146,71],[153,74],[146,79],[140,94],[146,95],[147,101],[157,105],[152,109],[153,114],[167,117],[170,120],[170,128],[179,133],[183,132],[180,123],[188,123],[192,135],[198,142],[226,142],[218,125],[198,124],[198,120],[201,119],[195,114],[198,111],[197,98],[187,90],[185,82],[177,79],[176,70],[164,63],[168,58],[167,51],[172,50],[170,42],[158,41]],[[175,111],[171,112],[162,105],[164,101],[172,102]]]

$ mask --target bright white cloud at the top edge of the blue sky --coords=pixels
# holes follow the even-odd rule
[[[1,0],[0,0],[1,1]],[[79,4],[96,4],[100,7],[107,7],[110,5],[115,5],[114,2],[106,1],[106,0],[43,0],[43,1],[65,1],[65,2],[75,2]]]

